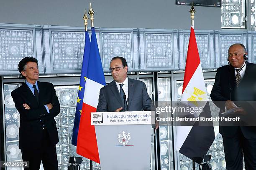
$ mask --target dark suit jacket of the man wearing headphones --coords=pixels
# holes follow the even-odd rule
[[[210,97],[220,108],[220,113],[225,111],[225,101],[255,101],[256,100],[256,64],[246,63],[246,70],[239,84],[236,86],[235,68],[231,65],[219,67],[212,87]],[[223,102],[220,102],[223,101]],[[242,102],[241,102],[242,103]],[[244,102],[243,102],[244,103]],[[256,115],[255,115],[256,116]],[[220,133],[227,137],[233,137],[238,126],[220,126]],[[256,127],[241,126],[243,135],[250,139],[256,138]]]

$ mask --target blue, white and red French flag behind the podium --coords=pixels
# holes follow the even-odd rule
[[[87,79],[84,89],[84,100],[77,137],[77,154],[100,163],[95,134],[91,125],[91,112],[96,112],[100,89],[106,85],[97,45],[95,28],[92,27],[90,56],[88,60]]]

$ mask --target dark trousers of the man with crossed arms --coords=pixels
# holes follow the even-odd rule
[[[44,170],[58,170],[58,160],[55,145],[51,144],[47,130],[43,130],[43,142],[38,148],[21,150],[22,160],[29,162],[29,167],[24,170],[39,170],[41,161]]]

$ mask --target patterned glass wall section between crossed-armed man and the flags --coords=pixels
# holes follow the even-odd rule
[[[56,145],[57,158],[59,170],[68,170],[69,156],[79,156],[76,153],[76,147],[71,144],[78,86],[56,86],[55,90],[61,105],[60,113],[55,117],[59,133],[59,143]],[[83,158],[81,169],[89,170],[90,160]],[[100,169],[100,165],[93,163],[93,169]]]

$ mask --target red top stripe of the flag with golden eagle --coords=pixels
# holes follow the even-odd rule
[[[187,87],[191,77],[194,75],[195,70],[197,70],[197,67],[199,64],[200,64],[200,57],[197,49],[195,31],[194,31],[194,28],[191,26],[182,93]]]

